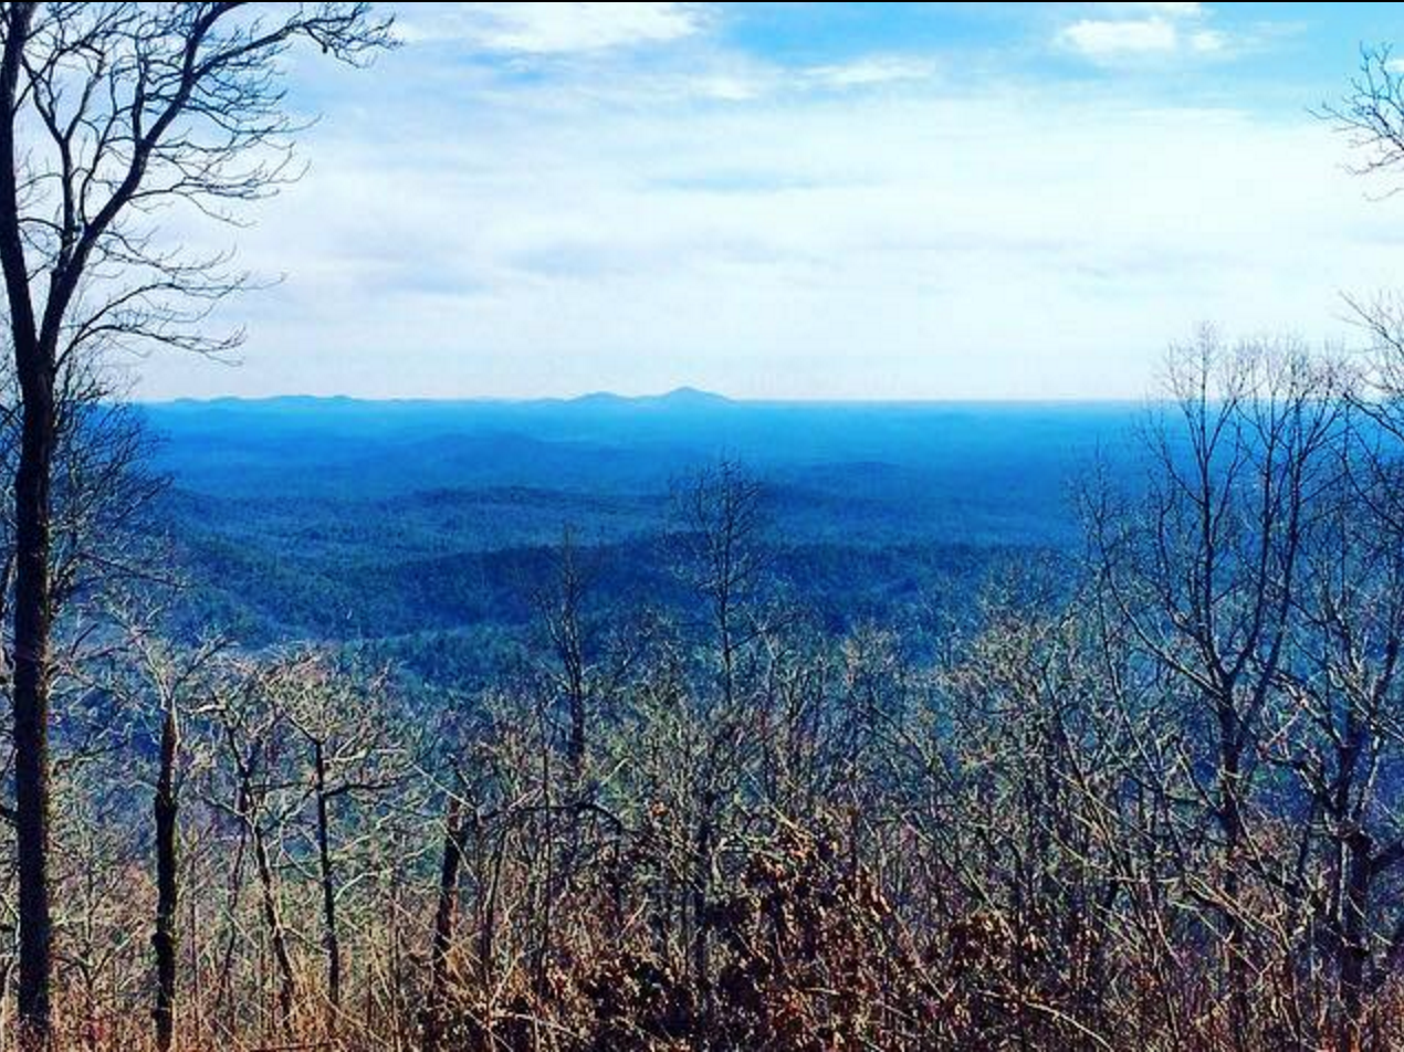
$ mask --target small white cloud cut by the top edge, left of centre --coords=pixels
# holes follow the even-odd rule
[[[463,39],[494,52],[563,55],[665,43],[703,22],[703,7],[688,3],[480,3],[410,4],[397,28],[409,42]]]

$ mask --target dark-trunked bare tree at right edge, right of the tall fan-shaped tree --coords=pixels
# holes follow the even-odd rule
[[[1366,425],[1369,426],[1369,425]],[[1369,433],[1369,432],[1367,432]],[[1404,863],[1404,826],[1391,807],[1400,755],[1404,658],[1404,543],[1396,473],[1370,440],[1352,443],[1306,562],[1303,661],[1283,669],[1283,690],[1304,728],[1282,736],[1282,762],[1321,815],[1325,886],[1318,906],[1337,968],[1337,1045],[1365,1046],[1365,999],[1376,962],[1375,899]],[[1404,945],[1400,929],[1387,957]]]

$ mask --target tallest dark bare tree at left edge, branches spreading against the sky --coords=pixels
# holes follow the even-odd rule
[[[56,383],[94,348],[218,353],[212,303],[241,288],[222,257],[161,247],[156,209],[229,217],[288,178],[298,125],[279,56],[306,39],[357,60],[386,42],[365,4],[261,15],[243,3],[0,6],[0,268],[21,401],[14,480],[14,739],[20,1014],[48,1038],[52,473]]]

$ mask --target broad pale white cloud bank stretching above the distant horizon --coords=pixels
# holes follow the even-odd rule
[[[289,275],[239,307],[244,367],[163,358],[145,396],[1136,397],[1200,320],[1337,334],[1404,229],[1310,118],[1120,86],[410,87],[366,84],[239,234]]]

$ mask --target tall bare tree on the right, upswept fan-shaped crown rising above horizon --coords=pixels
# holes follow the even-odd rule
[[[1290,656],[1314,504],[1338,468],[1341,398],[1299,346],[1226,346],[1212,330],[1170,362],[1170,412],[1150,432],[1140,506],[1095,516],[1101,581],[1116,616],[1207,720],[1217,833],[1213,879],[1191,891],[1223,927],[1227,1030],[1252,1041],[1247,877],[1262,856],[1250,828],[1264,717]]]

